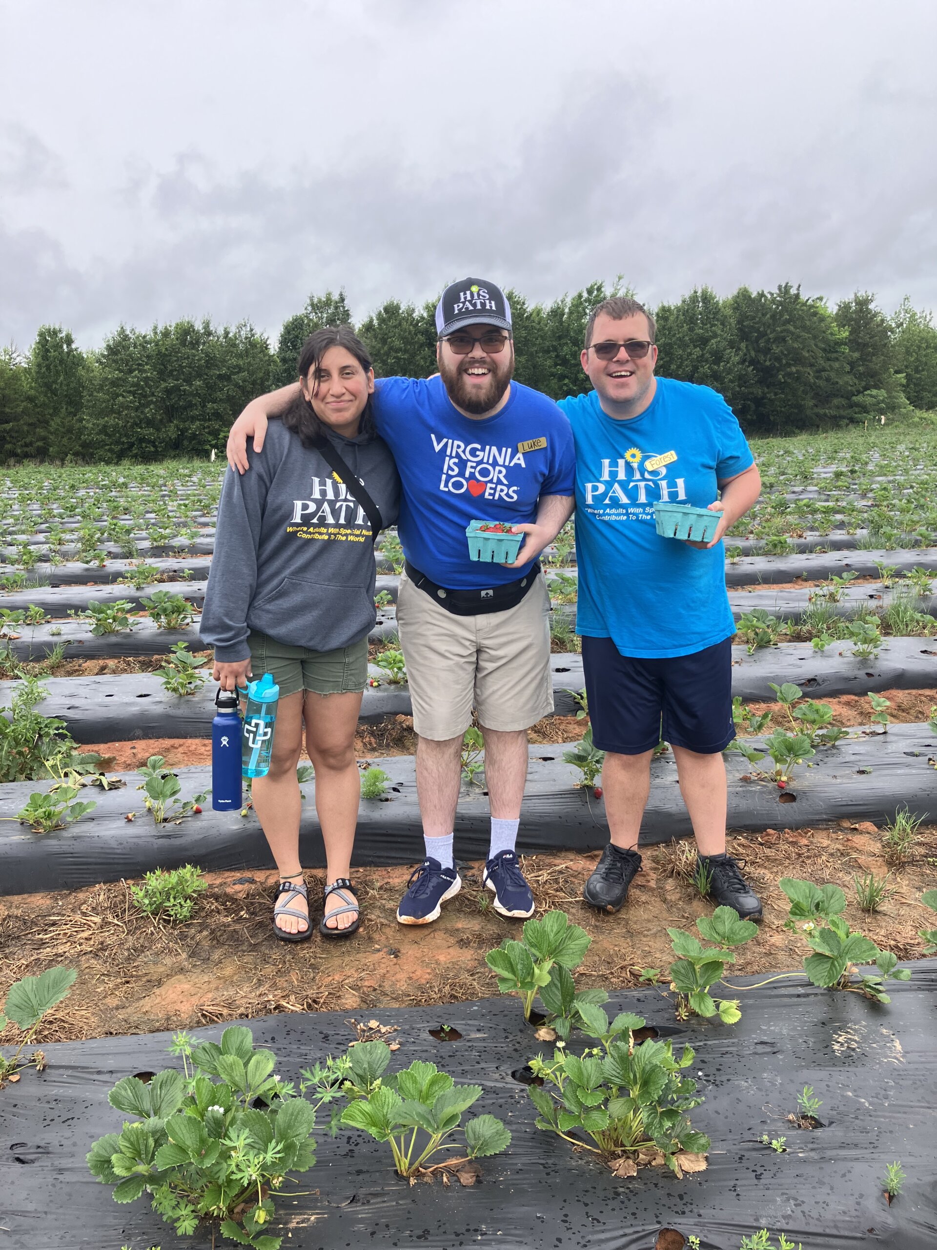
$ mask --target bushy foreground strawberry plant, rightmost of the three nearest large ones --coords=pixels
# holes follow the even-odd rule
[[[537,1128],[593,1152],[616,1176],[633,1176],[638,1164],[666,1164],[677,1178],[702,1171],[710,1139],[686,1114],[702,1099],[696,1082],[681,1076],[693,1061],[692,1049],[685,1046],[677,1058],[671,1041],[636,1046],[632,1030],[645,1021],[622,1015],[626,1021],[602,1048],[578,1056],[560,1042],[551,1060],[531,1060],[543,1081],[527,1088]]]

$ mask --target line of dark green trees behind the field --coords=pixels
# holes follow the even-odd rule
[[[587,390],[580,368],[590,310],[616,285],[591,282],[552,304],[508,291],[518,381],[555,399]],[[379,376],[436,370],[435,300],[387,300],[356,329]],[[868,292],[831,309],[785,282],[720,298],[695,289],[653,309],[657,372],[723,394],[751,435],[782,435],[937,409],[937,328],[906,299],[887,316]],[[292,381],[302,342],[355,324],[345,292],[311,295],[275,346],[247,322],[121,325],[82,351],[44,325],[25,354],[0,352],[0,461],[161,460],[207,455],[254,395]]]

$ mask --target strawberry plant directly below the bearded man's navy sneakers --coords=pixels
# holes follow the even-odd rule
[[[520,994],[523,1019],[530,1021],[533,1000],[540,994],[550,1015],[550,1025],[561,1038],[568,1038],[580,1004],[605,1002],[605,990],[578,994],[570,972],[586,958],[592,939],[578,925],[570,924],[565,911],[547,911],[542,920],[528,920],[522,941],[506,938],[490,950],[485,962],[497,976],[502,994]]]

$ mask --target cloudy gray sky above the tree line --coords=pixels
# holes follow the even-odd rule
[[[933,0],[0,0],[0,344],[472,272],[937,306]]]

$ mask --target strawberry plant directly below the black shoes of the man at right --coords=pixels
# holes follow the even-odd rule
[[[668,929],[673,954],[677,960],[670,966],[671,989],[677,992],[677,1019],[690,1015],[711,1018],[718,1014],[723,1024],[741,1020],[737,999],[713,999],[712,986],[722,980],[726,964],[735,962],[730,948],[741,946],[758,931],[752,920],[742,920],[732,908],[716,908],[712,916],[696,921],[700,935],[715,946],[703,946],[683,929]]]

